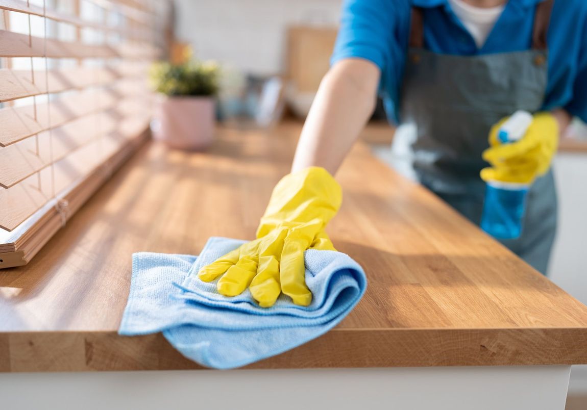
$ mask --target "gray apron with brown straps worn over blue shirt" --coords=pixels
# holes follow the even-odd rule
[[[402,84],[400,117],[413,123],[413,168],[421,184],[479,225],[490,128],[516,110],[541,109],[548,74],[546,31],[552,0],[537,5],[532,49],[479,56],[424,50],[423,9],[412,9],[410,50]],[[545,274],[556,232],[552,171],[529,190],[522,235],[500,240]]]

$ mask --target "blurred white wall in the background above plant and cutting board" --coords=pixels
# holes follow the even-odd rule
[[[176,0],[177,37],[195,55],[255,74],[284,68],[291,25],[335,26],[342,0]]]

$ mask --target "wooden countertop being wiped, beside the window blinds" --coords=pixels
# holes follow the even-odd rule
[[[148,143],[29,263],[0,270],[0,371],[185,369],[120,337],[131,253],[254,238],[299,126],[220,129],[207,153]],[[328,226],[369,287],[334,330],[251,368],[587,363],[587,307],[358,144]]]

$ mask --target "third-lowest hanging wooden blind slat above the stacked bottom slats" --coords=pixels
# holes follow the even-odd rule
[[[64,96],[48,104],[0,109],[0,147],[6,147],[25,138],[58,127],[74,118],[105,109],[117,100],[146,92],[142,80],[122,80],[112,87],[86,89],[72,96]],[[35,119],[36,111],[36,119]]]

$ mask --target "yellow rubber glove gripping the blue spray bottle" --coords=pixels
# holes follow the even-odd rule
[[[497,135],[507,119],[491,127],[491,147],[483,152],[483,159],[492,166],[481,170],[481,179],[531,184],[550,168],[558,148],[558,121],[550,113],[534,114],[524,137],[514,143],[501,144]]]

